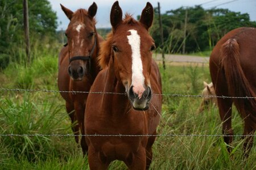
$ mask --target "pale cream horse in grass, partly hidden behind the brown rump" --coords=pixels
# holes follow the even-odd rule
[[[210,104],[217,105],[216,97],[210,97],[216,96],[212,82],[210,82],[209,84],[207,82],[204,82],[204,90],[202,91],[202,95],[204,97],[199,108],[199,113],[203,112],[204,109],[209,107]]]

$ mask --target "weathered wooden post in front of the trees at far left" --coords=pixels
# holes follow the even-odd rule
[[[28,3],[23,0],[24,33],[26,42],[27,65],[30,64],[30,25],[28,22]]]

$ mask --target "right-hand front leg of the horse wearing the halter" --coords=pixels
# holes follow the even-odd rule
[[[85,129],[84,129],[84,112],[85,112],[85,105],[83,103],[75,103],[75,110],[76,110],[76,115],[77,115],[77,121],[79,122],[79,127],[81,130],[81,134],[85,135]],[[81,137],[81,147],[82,147],[82,152],[85,155],[86,152],[88,151],[88,146],[86,145],[85,141],[85,136]]]

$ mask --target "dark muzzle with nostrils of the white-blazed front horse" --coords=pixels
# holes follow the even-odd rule
[[[133,87],[131,86],[128,92],[128,98],[133,105],[133,108],[137,111],[146,111],[149,107],[150,100],[152,98],[152,91],[150,87],[146,87],[141,96],[136,94],[133,91]]]

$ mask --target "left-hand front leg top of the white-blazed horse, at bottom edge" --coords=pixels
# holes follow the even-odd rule
[[[108,169],[110,162],[106,156],[100,152],[96,152],[93,147],[88,148],[88,163],[90,169]]]

